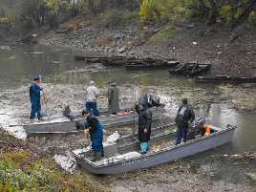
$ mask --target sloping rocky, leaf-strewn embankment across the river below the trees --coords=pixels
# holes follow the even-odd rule
[[[68,31],[48,32],[40,43],[96,54],[208,60],[214,64],[212,75],[256,74],[256,32],[246,26],[231,31],[221,24],[182,23],[141,29],[131,21],[108,27],[102,18],[72,19],[60,27]]]

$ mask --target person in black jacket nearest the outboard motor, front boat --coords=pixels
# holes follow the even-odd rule
[[[187,98],[182,98],[182,105],[178,110],[176,123],[177,123],[177,140],[176,145],[186,142],[186,135],[189,125],[195,120],[195,113],[192,107],[188,105]]]

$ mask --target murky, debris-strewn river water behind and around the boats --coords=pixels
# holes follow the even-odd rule
[[[128,72],[123,68],[106,68],[100,64],[75,62],[76,52],[35,46],[11,47],[0,50],[0,123],[8,127],[28,118],[29,85],[34,75],[42,75],[50,101],[43,109],[48,114],[60,113],[67,103],[75,109],[83,104],[84,86],[93,79],[101,90],[99,105],[106,106],[108,81],[117,82],[122,103],[133,102],[134,96],[148,91],[166,104],[165,115],[175,117],[181,97],[188,97],[197,116],[205,116],[216,126],[237,126],[232,143],[212,150],[211,154],[256,152],[255,112],[235,110],[219,85],[197,85],[191,79],[168,75],[165,70]],[[24,120],[24,119],[22,119]],[[21,121],[22,121],[21,120]],[[12,134],[20,137],[18,130]],[[205,154],[189,160],[205,159]],[[255,166],[254,166],[255,168]]]

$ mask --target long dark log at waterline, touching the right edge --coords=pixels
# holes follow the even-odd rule
[[[197,76],[195,82],[198,83],[256,83],[256,76]]]

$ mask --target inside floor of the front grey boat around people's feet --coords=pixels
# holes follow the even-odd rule
[[[147,155],[154,154],[164,148],[174,146],[177,136],[175,128],[176,127],[174,125],[170,125],[152,129],[150,149]],[[195,139],[201,137],[201,135],[197,135]],[[91,154],[91,151],[87,151],[79,154],[79,156],[84,160],[92,161]],[[138,158],[140,156],[142,156],[142,154],[140,153],[139,140],[137,139],[137,136],[133,137],[130,135],[122,137],[114,143],[104,143],[104,158],[92,161],[92,163],[95,165],[103,165],[120,160]]]

